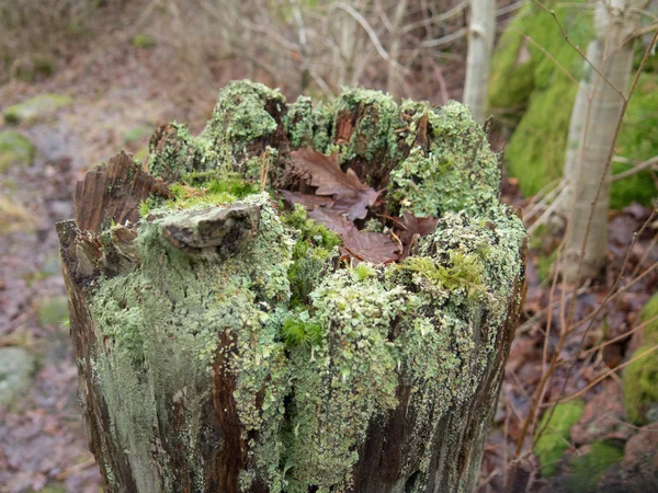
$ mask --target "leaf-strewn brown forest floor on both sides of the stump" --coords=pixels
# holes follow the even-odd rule
[[[66,93],[72,98],[70,104],[33,122],[0,127],[0,131],[16,129],[36,147],[32,164],[11,167],[0,173],[0,196],[8,197],[19,210],[14,210],[14,216],[20,225],[18,230],[0,230],[0,352],[20,351],[29,368],[25,390],[11,402],[0,403],[0,493],[44,489],[52,493],[99,491],[99,471],[87,449],[76,398],[77,371],[68,328],[63,323],[67,306],[54,223],[73,217],[72,191],[87,169],[106,162],[122,148],[144,152],[150,130],[159,123],[186,122],[197,131],[214,103],[213,95],[203,102],[192,98],[184,102],[180,83],[173,83],[161,70],[171,56],[164,47],[140,49],[125,39],[103,46],[76,55],[66,68],[43,81],[12,81],[0,87],[0,111],[43,93]],[[224,82],[217,81],[217,88]],[[458,91],[453,84],[451,96],[458,95]],[[515,193],[513,181],[506,181],[504,185],[507,202],[526,204]],[[600,279],[578,291],[575,320],[586,318],[604,301],[624,264],[633,233],[650,213],[650,208],[633,206],[614,215],[610,222],[608,268]],[[650,251],[655,234],[656,230],[648,228],[637,239],[626,270],[633,272],[642,259],[644,266],[637,267],[638,272],[658,261],[657,249]],[[544,237],[531,243],[525,312],[487,444],[480,491],[501,491],[507,471],[503,465],[513,456],[522,417],[530,409],[529,393],[542,376],[544,328],[549,313],[545,307],[551,298],[551,282],[543,279],[544,266],[558,242],[559,238]],[[594,319],[585,347],[594,346],[604,336],[610,339],[629,331],[657,284],[654,272],[610,302],[608,310]],[[568,296],[565,294],[567,300]],[[560,297],[557,289],[553,299]],[[564,321],[559,303],[552,317],[549,345],[555,344]],[[576,363],[564,395],[585,389],[604,368],[622,362],[628,352],[626,339],[608,346],[604,354],[594,353],[598,358],[583,357],[577,335],[582,335],[586,326],[563,349],[563,358]],[[604,326],[609,328],[605,334]],[[548,399],[560,393],[567,369],[566,366],[558,369],[547,390]],[[599,406],[604,406],[605,415],[612,417],[608,427],[597,426],[597,436],[590,436],[592,427],[587,426],[586,408],[581,433],[569,444],[567,452],[577,454],[580,447],[602,439],[605,434],[625,440],[636,433],[625,424],[620,385],[619,378],[609,379],[582,395],[586,405],[597,408],[595,419],[601,416]],[[591,420],[591,412],[589,416]],[[548,488],[547,484],[537,481],[533,490]]]

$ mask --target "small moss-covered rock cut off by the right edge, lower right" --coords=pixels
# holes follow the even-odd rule
[[[642,311],[640,323],[658,316],[658,295]],[[636,357],[658,344],[658,320],[644,328],[643,345],[629,355]],[[624,400],[628,420],[636,425],[658,422],[658,357],[651,352],[631,363],[624,370]]]

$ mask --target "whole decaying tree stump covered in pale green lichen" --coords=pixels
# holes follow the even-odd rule
[[[523,290],[499,181],[458,103],[250,82],[88,172],[57,231],[105,490],[472,491]]]

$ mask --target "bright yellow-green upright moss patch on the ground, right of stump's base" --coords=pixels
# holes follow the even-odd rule
[[[544,433],[534,446],[542,466],[542,475],[555,473],[557,461],[569,448],[571,426],[580,420],[583,409],[585,402],[580,400],[563,402],[555,406],[553,414],[547,411],[542,417],[537,429],[544,429]]]

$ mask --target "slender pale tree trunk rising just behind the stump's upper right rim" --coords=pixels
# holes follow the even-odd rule
[[[484,122],[487,110],[487,87],[495,33],[496,1],[470,0],[464,104],[470,108],[474,118],[479,123]]]

